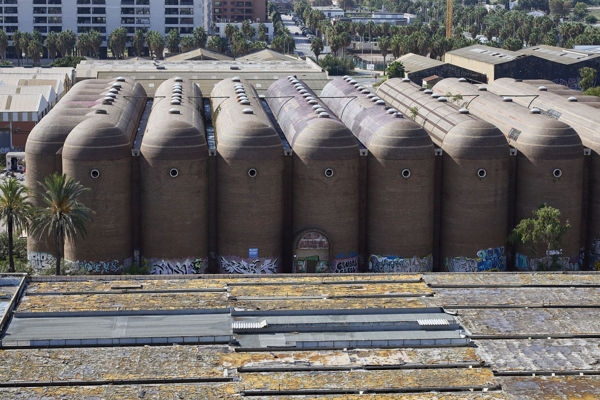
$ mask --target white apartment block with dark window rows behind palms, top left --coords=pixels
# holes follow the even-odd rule
[[[176,28],[191,34],[196,26],[209,29],[212,0],[2,0],[0,27],[14,31],[37,29],[49,32],[72,29],[76,34],[95,29],[104,35],[101,55],[106,55],[106,37],[124,26],[130,37],[137,29],[168,33]],[[266,4],[265,4],[266,7]],[[14,53],[9,57],[14,57]]]

